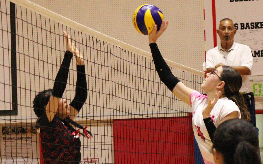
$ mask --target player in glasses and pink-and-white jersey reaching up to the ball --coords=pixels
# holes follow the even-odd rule
[[[206,78],[201,84],[201,88],[207,96],[186,87],[172,74],[156,44],[156,40],[166,30],[167,26],[168,20],[163,20],[160,30],[157,31],[155,25],[149,35],[149,46],[155,68],[161,81],[169,90],[186,104],[192,106],[192,127],[201,154],[206,164],[214,163],[212,139],[205,122],[208,123],[208,126],[212,124],[212,126],[217,127],[229,119],[249,119],[250,115],[245,101],[238,92],[242,85],[242,78],[234,68],[221,66],[206,74]]]

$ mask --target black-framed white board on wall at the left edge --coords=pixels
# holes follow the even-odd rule
[[[0,115],[17,115],[16,5],[6,3],[1,11]]]

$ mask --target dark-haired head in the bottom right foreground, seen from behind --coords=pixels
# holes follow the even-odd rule
[[[261,164],[258,133],[243,119],[220,124],[214,133],[212,149],[216,164]]]

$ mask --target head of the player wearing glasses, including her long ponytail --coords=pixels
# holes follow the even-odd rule
[[[221,91],[225,96],[236,103],[241,118],[250,120],[250,113],[247,111],[247,104],[243,96],[239,93],[242,86],[242,77],[234,68],[229,66],[220,66],[210,73],[206,74],[206,78],[201,84],[201,88],[206,94],[215,95]]]

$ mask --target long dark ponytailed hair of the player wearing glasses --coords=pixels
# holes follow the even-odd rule
[[[247,103],[243,96],[239,93],[242,86],[241,75],[232,67],[222,66],[221,80],[225,82],[224,95],[236,103],[238,106],[241,118],[250,121],[251,114],[248,111]]]

